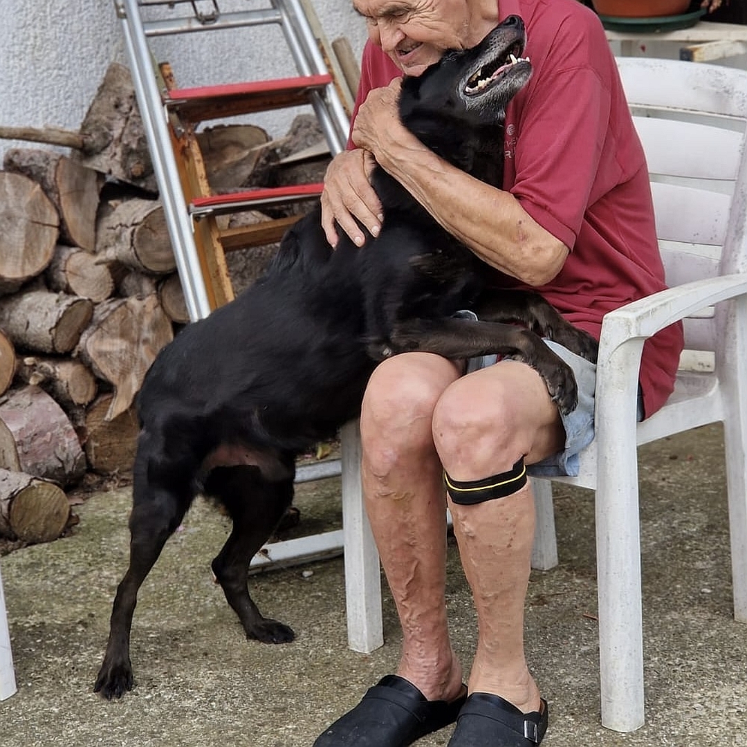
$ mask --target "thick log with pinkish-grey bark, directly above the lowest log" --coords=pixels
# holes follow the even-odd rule
[[[10,389],[0,403],[0,467],[71,485],[86,459],[67,415],[37,386]]]

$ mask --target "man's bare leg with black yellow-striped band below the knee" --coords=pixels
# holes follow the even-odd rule
[[[562,448],[557,408],[542,379],[515,362],[477,371],[448,388],[433,435],[454,480],[509,471]],[[524,657],[524,601],[534,536],[527,484],[505,498],[474,505],[450,501],[454,531],[477,610],[479,637],[470,692],[490,692],[525,713],[539,709],[539,689]]]

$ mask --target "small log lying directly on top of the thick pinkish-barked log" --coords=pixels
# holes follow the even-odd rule
[[[96,397],[96,377],[80,361],[25,356],[16,373],[25,384],[51,394],[63,409],[87,405]]]

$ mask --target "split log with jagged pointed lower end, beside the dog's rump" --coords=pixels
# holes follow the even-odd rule
[[[110,299],[96,306],[75,355],[114,386],[109,420],[128,409],[156,354],[172,339],[171,321],[156,295]]]

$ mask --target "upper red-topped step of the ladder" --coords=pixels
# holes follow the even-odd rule
[[[190,122],[202,122],[308,104],[313,91],[331,82],[331,75],[303,75],[273,81],[176,88],[165,93],[165,103]]]

